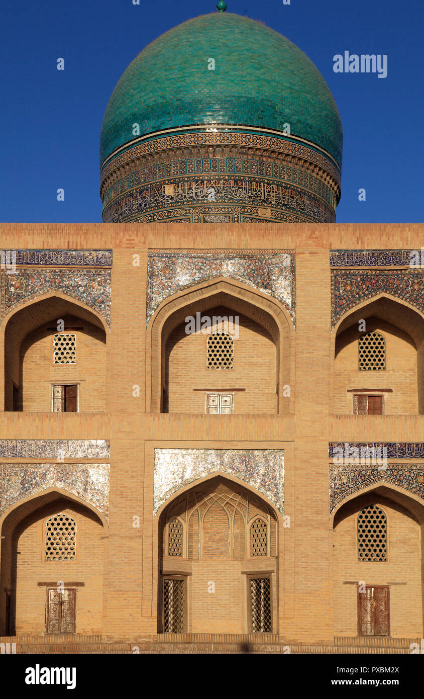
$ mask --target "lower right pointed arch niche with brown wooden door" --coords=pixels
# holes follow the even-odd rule
[[[374,521],[375,518],[370,517],[372,511],[383,513],[379,522],[378,518]],[[361,560],[363,556],[358,538],[365,531],[364,516],[360,520],[358,531],[358,517],[361,513],[365,513],[368,521],[367,536],[371,542],[377,542],[377,548],[381,548],[381,537],[385,533],[386,556],[371,555],[365,556],[367,560]],[[382,534],[381,521],[384,518],[385,532]],[[340,503],[330,518],[330,528],[333,544],[335,636],[349,637],[365,633],[421,638],[424,608],[424,503],[421,498],[409,496],[403,489],[391,484],[373,485]],[[385,592],[386,610],[379,612],[380,617],[386,617],[386,629],[381,628],[385,624],[384,619],[383,624],[381,619],[377,619],[380,628],[373,629],[370,618],[365,618],[364,625],[359,604],[360,581],[371,594],[371,588],[373,591],[377,589]],[[367,607],[366,599],[363,600],[363,605]],[[368,612],[368,617],[370,614],[372,616],[372,609]]]

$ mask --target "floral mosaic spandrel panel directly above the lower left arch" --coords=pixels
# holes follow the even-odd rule
[[[109,517],[108,463],[1,463],[0,515],[22,498],[57,487]]]

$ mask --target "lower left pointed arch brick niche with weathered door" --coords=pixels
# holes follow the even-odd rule
[[[75,555],[51,560],[46,556],[46,525],[59,514],[75,521]],[[3,514],[0,526],[0,635],[49,633],[48,589],[56,594],[58,581],[74,591],[71,633],[101,634],[102,535],[107,525],[100,512],[67,491],[50,488],[16,503]]]

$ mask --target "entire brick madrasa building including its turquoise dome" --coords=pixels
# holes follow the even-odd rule
[[[330,89],[225,10],[117,83],[103,223],[1,226],[17,652],[423,637],[423,226],[335,223]]]

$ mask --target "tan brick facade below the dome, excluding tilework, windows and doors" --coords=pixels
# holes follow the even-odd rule
[[[381,250],[387,240],[393,250],[420,250],[423,232],[423,226],[413,224],[3,224],[4,250],[107,248],[113,261],[110,329],[94,304],[63,290],[55,295],[54,284],[48,294],[14,305],[2,320],[0,362],[5,362],[6,384],[1,368],[0,439],[110,440],[110,459],[80,456],[63,461],[64,466],[92,464],[93,473],[96,464],[110,463],[110,494],[108,519],[83,489],[78,496],[50,485],[34,493],[28,486],[24,498],[2,511],[0,636],[6,633],[10,593],[9,634],[21,637],[22,644],[28,642],[24,637],[43,637],[46,587],[40,583],[64,581],[84,583],[75,585],[74,642],[80,635],[96,637],[91,643],[100,637],[103,643],[162,643],[165,634],[157,635],[161,577],[180,575],[187,582],[186,635],[247,638],[248,579],[258,574],[271,579],[270,643],[322,649],[354,645],[360,581],[389,587],[393,642],[402,645],[421,637],[424,500],[419,484],[415,488],[409,481],[402,486],[401,478],[397,483],[382,480],[346,496],[330,515],[328,444],[424,442],[424,313],[414,289],[409,301],[396,290],[388,294],[376,289],[374,296],[346,310],[332,329],[335,291],[330,273],[330,250]],[[189,284],[171,294],[146,324],[148,252],[218,248],[293,250],[295,324],[278,298],[232,278],[231,268],[218,280]],[[407,269],[402,266],[402,273]],[[19,271],[18,266],[17,277]],[[206,336],[184,332],[185,317],[196,312],[239,315],[233,370],[206,368]],[[65,329],[76,328],[76,365],[53,363],[53,331],[48,328],[60,318]],[[367,330],[376,329],[386,339],[385,370],[358,369],[360,319],[366,320]],[[79,382],[80,412],[53,413],[48,387],[67,382]],[[13,384],[18,390],[15,411]],[[206,415],[205,389],[239,389],[233,415]],[[352,414],[353,394],[359,389],[384,389],[384,415]],[[154,514],[154,449],[159,448],[284,450],[284,511],[271,492],[267,496],[266,489],[251,484],[253,478],[249,482],[245,475],[219,475],[226,492],[240,498],[248,493],[259,509],[272,513],[275,550],[254,561],[246,542],[244,558],[231,552],[224,556],[220,537],[230,524],[221,505],[213,505],[210,515],[204,515],[203,550],[209,554],[198,560],[181,556],[178,565],[175,556],[160,556],[159,523],[167,508],[199,487],[219,496],[219,479],[206,474],[196,484],[187,481]],[[41,448],[37,456],[2,461],[30,465],[54,459]],[[407,470],[409,462],[423,464],[424,458],[402,459],[402,468]],[[15,487],[3,477],[3,498],[5,484]],[[388,561],[358,562],[356,521],[370,503],[386,512]],[[43,523],[50,514],[64,511],[78,522],[78,558],[45,561]],[[183,508],[178,516],[183,522],[187,516],[189,526],[187,512]],[[238,532],[233,531],[233,538],[240,536],[241,521],[231,525]],[[211,581],[214,593],[207,590]],[[223,642],[228,638],[223,636]],[[182,642],[182,637],[177,640]],[[369,640],[370,647],[374,640]]]

